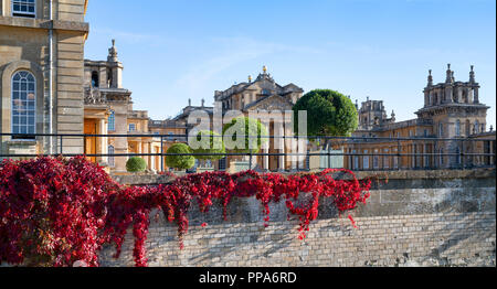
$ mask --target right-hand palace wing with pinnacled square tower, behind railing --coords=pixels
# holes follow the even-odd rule
[[[360,108],[356,105],[359,128],[352,136],[378,140],[347,141],[342,149],[351,156],[346,157],[345,168],[390,170],[490,165],[495,161],[493,158],[470,156],[495,152],[495,131],[486,131],[489,107],[479,101],[479,87],[473,66],[467,82],[456,82],[450,64],[444,83],[434,84],[430,71],[427,85],[423,90],[424,106],[415,113],[417,118],[398,122],[393,111],[387,118],[383,101],[370,100],[368,97]],[[430,138],[446,140],[431,141]],[[494,141],[469,141],[489,138]],[[399,152],[425,154],[396,157]]]

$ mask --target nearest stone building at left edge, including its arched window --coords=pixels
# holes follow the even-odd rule
[[[0,1],[0,153],[83,153],[87,0]]]

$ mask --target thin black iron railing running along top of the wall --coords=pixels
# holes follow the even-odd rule
[[[0,159],[11,158],[36,158],[49,156],[88,158],[129,158],[129,157],[160,157],[160,171],[165,170],[165,158],[168,156],[212,156],[212,157],[247,157],[248,167],[252,168],[253,158],[256,157],[304,157],[303,161],[297,161],[296,170],[309,170],[308,162],[311,157],[325,158],[328,168],[331,167],[334,158],[342,157],[343,168],[351,170],[436,170],[436,169],[474,169],[496,167],[496,140],[495,138],[434,138],[434,137],[411,137],[411,138],[389,138],[389,137],[330,137],[330,136],[300,136],[300,139],[311,139],[315,143],[320,143],[320,148],[305,152],[226,152],[226,153],[168,153],[166,146],[172,139],[188,139],[187,135],[70,135],[70,133],[0,133]],[[222,137],[222,136],[214,136]],[[47,138],[53,138],[56,148],[52,152],[45,150],[40,153],[9,153],[9,143],[15,143],[19,139],[31,139],[43,142]],[[133,153],[91,153],[84,148],[82,153],[67,153],[64,141],[68,139],[82,139],[83,146],[87,139],[99,138],[140,138],[159,142],[159,152],[133,152]],[[260,136],[251,138],[265,139],[297,139],[294,136]],[[6,140],[7,139],[7,140]],[[134,140],[136,141],[136,140]],[[65,147],[64,147],[65,146]],[[388,151],[384,149],[389,148]],[[422,146],[422,147],[417,147]],[[430,149],[426,149],[430,148]],[[383,159],[379,159],[383,157]],[[369,159],[372,158],[372,159]],[[378,158],[378,159],[377,159]],[[388,165],[385,165],[388,160]],[[368,163],[366,165],[366,162]],[[279,164],[278,164],[279,165]],[[282,165],[279,165],[282,167]],[[285,165],[283,165],[285,168]],[[319,168],[318,168],[319,169]],[[324,168],[320,168],[324,169]]]

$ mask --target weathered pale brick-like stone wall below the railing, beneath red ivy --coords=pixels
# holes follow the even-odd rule
[[[352,212],[357,229],[322,203],[305,240],[284,203],[272,204],[264,227],[258,201],[237,199],[228,222],[219,205],[209,214],[193,206],[180,250],[177,226],[154,212],[149,266],[495,266],[495,170],[385,175],[389,182],[374,184],[368,204]],[[134,266],[133,244],[128,233],[119,259],[113,246],[104,248],[102,266]]]

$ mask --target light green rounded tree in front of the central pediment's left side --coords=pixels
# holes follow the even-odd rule
[[[245,143],[241,143],[235,148],[228,148],[232,152],[237,153],[257,153],[262,144],[267,142],[267,128],[261,124],[258,119],[248,117],[236,117],[223,127],[224,143],[236,142],[237,138],[245,139]],[[228,144],[226,144],[228,146]],[[242,147],[242,148],[241,148]]]

